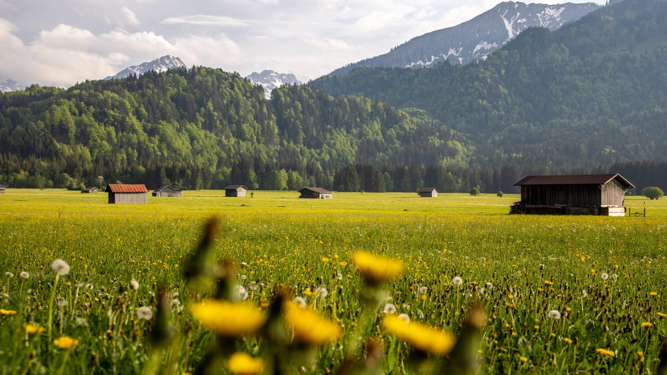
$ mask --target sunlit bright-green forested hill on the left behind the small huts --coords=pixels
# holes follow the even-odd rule
[[[333,188],[352,163],[463,167],[473,154],[424,111],[295,85],[266,101],[236,73],[204,67],[0,95],[0,181],[16,187],[102,176],[151,188]],[[387,179],[369,177],[369,190]]]

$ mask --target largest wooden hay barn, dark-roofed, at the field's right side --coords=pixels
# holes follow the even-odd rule
[[[625,193],[634,188],[621,175],[526,176],[521,201],[510,213],[625,216]]]

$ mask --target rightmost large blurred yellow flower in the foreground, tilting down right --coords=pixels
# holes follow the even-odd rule
[[[422,352],[446,355],[456,338],[450,332],[430,328],[417,322],[406,322],[394,314],[386,314],[382,319],[386,332],[408,342]]]

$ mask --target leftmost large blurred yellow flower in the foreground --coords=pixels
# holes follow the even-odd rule
[[[205,300],[190,307],[193,318],[225,337],[253,334],[266,321],[266,315],[245,303]]]

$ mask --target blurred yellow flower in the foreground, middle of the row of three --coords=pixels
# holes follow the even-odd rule
[[[293,332],[294,340],[305,344],[326,344],[343,334],[343,329],[339,324],[292,302],[285,304],[285,322]]]

